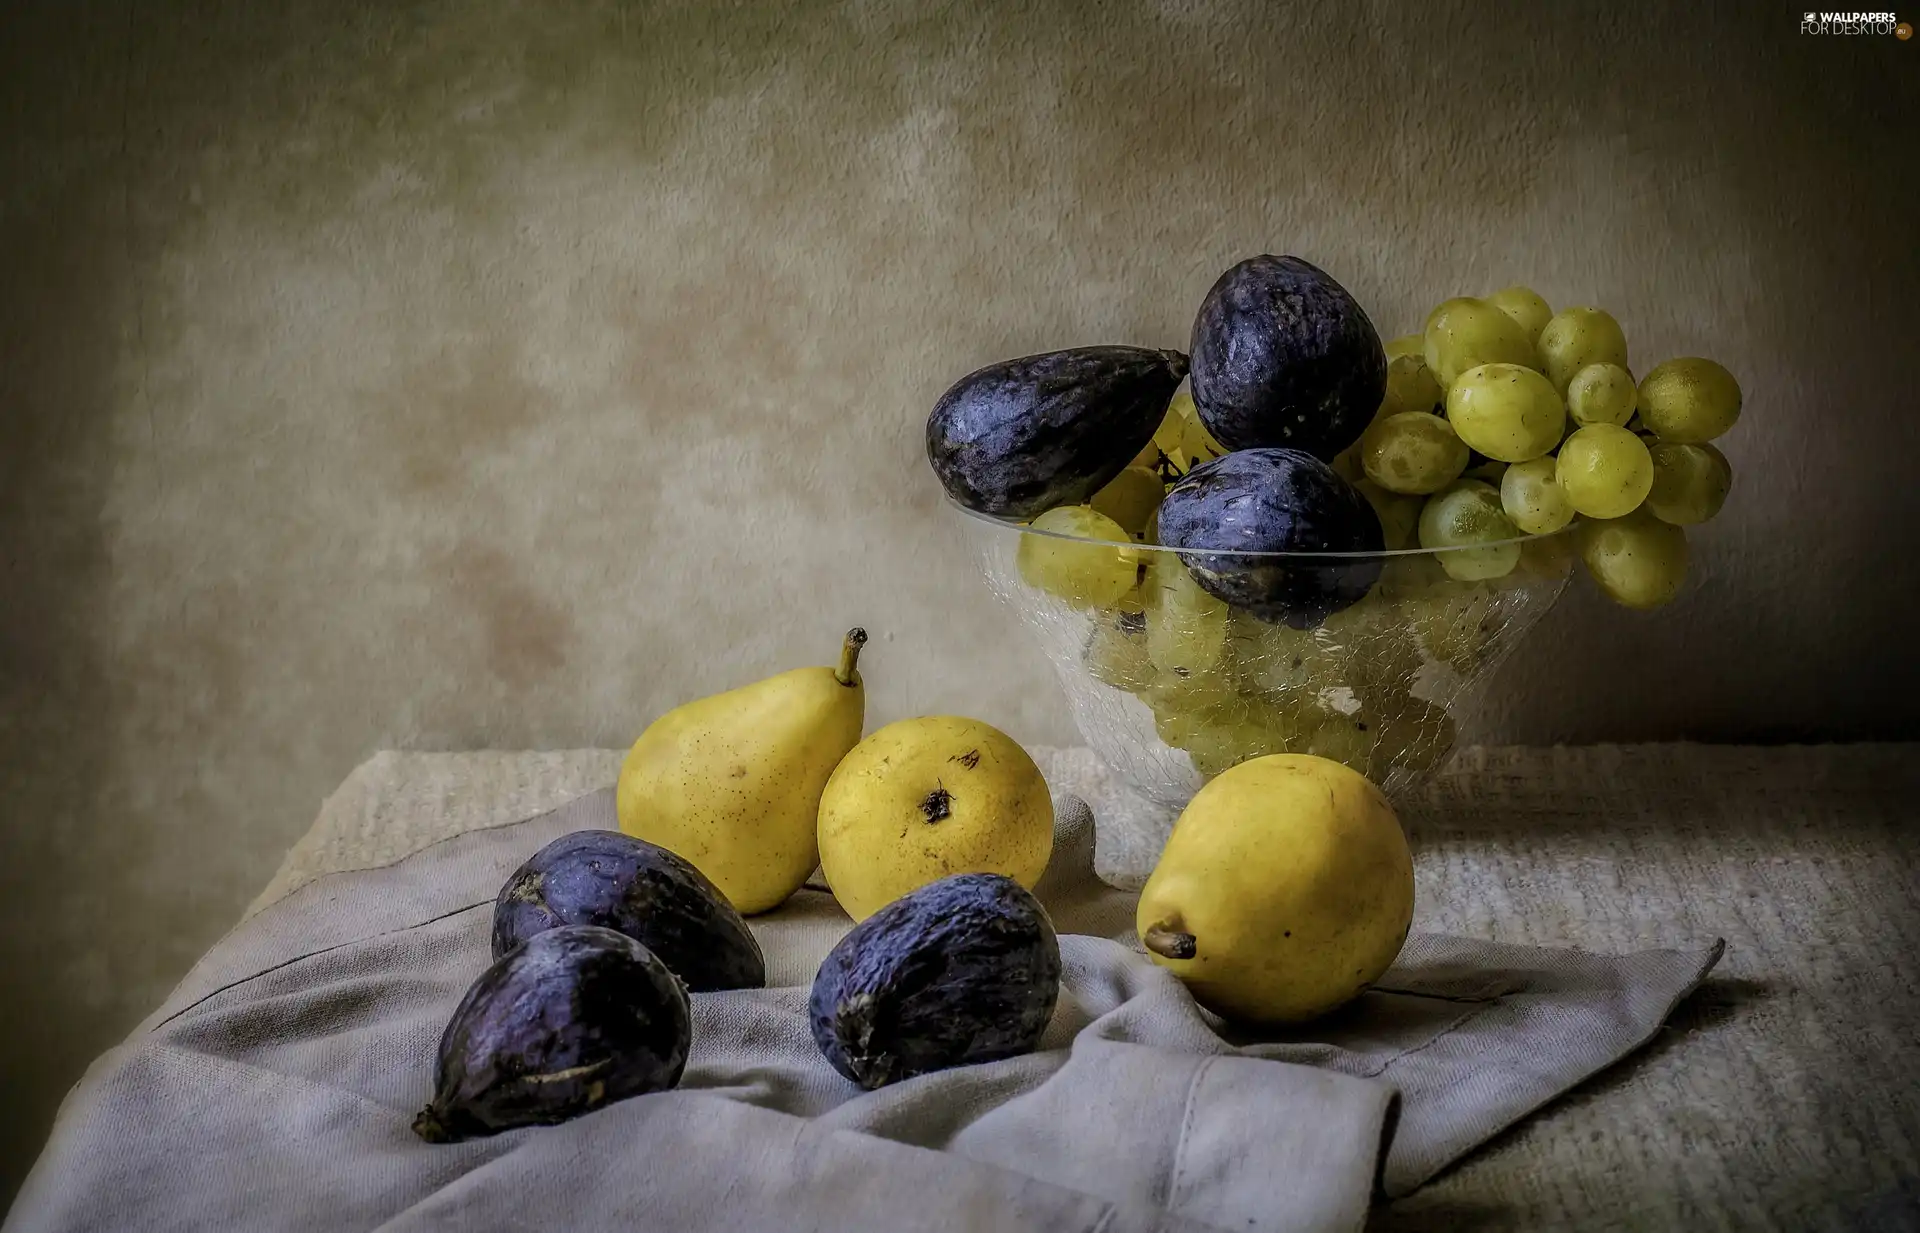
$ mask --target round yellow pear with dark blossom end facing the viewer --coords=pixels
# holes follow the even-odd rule
[[[952,714],[887,724],[820,797],[820,872],[854,920],[948,874],[1046,872],[1054,799],[1014,737]]]

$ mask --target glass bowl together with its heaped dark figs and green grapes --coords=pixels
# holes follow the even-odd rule
[[[1513,286],[1382,344],[1331,275],[1261,255],[1206,294],[1190,353],[989,365],[925,432],[1081,736],[1164,824],[1269,753],[1417,786],[1576,559],[1624,607],[1668,603],[1740,403],[1711,359],[1636,380],[1596,307]]]

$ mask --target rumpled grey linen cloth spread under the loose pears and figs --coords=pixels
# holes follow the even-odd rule
[[[680,1089],[417,1141],[493,893],[547,839],[614,826],[601,789],[250,916],[88,1072],[6,1227],[1357,1229],[1645,1043],[1720,955],[1415,935],[1346,1012],[1254,1039],[1146,962],[1091,812],[1056,810],[1039,893],[1066,972],[1031,1056],[841,1079],[806,985],[849,922],[806,889],[753,922],[770,989],[695,995]]]

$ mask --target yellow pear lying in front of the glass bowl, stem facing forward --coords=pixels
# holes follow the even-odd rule
[[[1148,956],[1202,1006],[1298,1024],[1350,1001],[1400,955],[1413,857],[1363,774],[1277,753],[1194,793],[1135,920]]]

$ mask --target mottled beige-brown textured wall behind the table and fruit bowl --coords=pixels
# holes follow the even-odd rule
[[[626,743],[856,620],[876,720],[1068,739],[924,413],[987,359],[1185,348],[1254,252],[1384,332],[1526,280],[1749,392],[1695,588],[1571,597],[1482,734],[1920,730],[1920,44],[1465,0],[4,12],[12,1170],[374,749]]]

